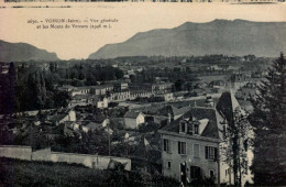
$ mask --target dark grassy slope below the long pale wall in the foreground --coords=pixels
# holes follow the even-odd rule
[[[77,164],[0,157],[0,187],[6,186],[178,186],[172,178],[144,172],[99,170]]]

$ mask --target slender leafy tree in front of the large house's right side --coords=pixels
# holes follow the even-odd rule
[[[221,144],[221,161],[227,162],[233,170],[234,186],[242,186],[242,178],[248,174],[248,151],[252,132],[245,112],[237,107],[228,125],[223,128]]]

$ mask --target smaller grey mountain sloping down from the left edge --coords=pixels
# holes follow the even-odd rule
[[[26,43],[9,43],[0,40],[0,62],[57,61],[55,53]]]

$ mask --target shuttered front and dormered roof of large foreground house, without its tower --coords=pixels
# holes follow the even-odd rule
[[[190,108],[158,133],[162,140],[162,172],[182,185],[201,178],[219,178],[219,131],[213,108]]]

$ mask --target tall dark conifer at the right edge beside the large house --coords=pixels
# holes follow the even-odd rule
[[[254,160],[251,167],[255,185],[286,185],[286,91],[283,54],[267,70],[252,99],[250,122],[254,128]]]

